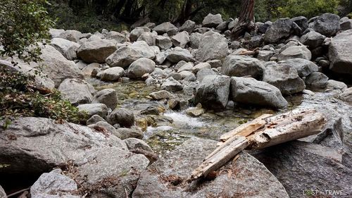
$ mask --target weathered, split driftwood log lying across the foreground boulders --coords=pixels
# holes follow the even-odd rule
[[[191,173],[188,181],[206,177],[244,149],[263,149],[320,132],[325,117],[314,109],[296,109],[278,116],[264,114],[220,137],[219,147]]]

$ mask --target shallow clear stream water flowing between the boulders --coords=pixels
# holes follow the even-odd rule
[[[134,113],[139,113],[152,105],[165,106],[166,111],[162,116],[172,118],[173,122],[156,123],[155,126],[148,126],[144,131],[144,140],[159,155],[168,153],[191,136],[218,140],[223,133],[237,128],[263,113],[283,113],[295,108],[315,108],[322,111],[329,109],[339,115],[352,113],[351,104],[336,99],[331,93],[315,92],[313,95],[296,94],[286,97],[289,101],[289,107],[280,111],[258,109],[253,106],[236,106],[235,109],[206,111],[202,116],[194,118],[188,116],[186,111],[172,111],[159,101],[151,101],[149,93],[159,89],[158,87],[146,86],[144,82],[116,82],[103,85],[98,81],[91,83],[95,84],[96,89],[115,89],[119,99],[118,106],[134,111]]]

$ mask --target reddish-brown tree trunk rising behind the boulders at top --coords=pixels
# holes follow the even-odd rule
[[[254,0],[243,0],[241,12],[239,13],[239,23],[232,30],[232,39],[237,39],[244,35],[244,32],[253,30]]]

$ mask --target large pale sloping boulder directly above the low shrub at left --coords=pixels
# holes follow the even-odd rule
[[[75,62],[68,61],[50,45],[42,47],[40,58],[43,60],[39,63],[42,72],[54,81],[55,87],[58,87],[66,78],[84,78],[82,71],[77,68]]]

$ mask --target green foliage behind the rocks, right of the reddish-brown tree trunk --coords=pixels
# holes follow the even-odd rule
[[[281,17],[306,16],[312,18],[322,13],[337,13],[339,0],[288,0],[277,8]]]

